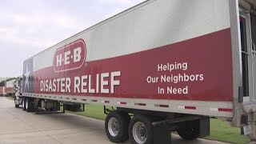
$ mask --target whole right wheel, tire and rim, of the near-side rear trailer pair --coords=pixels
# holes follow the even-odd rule
[[[129,125],[129,138],[131,143],[153,143],[153,119],[145,115],[135,115]]]

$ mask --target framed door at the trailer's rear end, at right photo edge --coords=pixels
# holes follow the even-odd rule
[[[255,36],[252,35],[255,30],[255,26],[252,22],[255,21],[254,14],[250,14],[240,8],[240,36],[241,36],[241,55],[242,55],[242,90],[243,90],[243,102],[254,101],[255,90]],[[252,37],[254,36],[254,38]]]

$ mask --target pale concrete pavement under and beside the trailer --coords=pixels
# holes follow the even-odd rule
[[[171,134],[173,144],[223,144],[205,139],[184,141]],[[0,97],[0,144],[112,144],[104,121],[75,114],[34,114],[15,108],[13,100]],[[130,142],[124,142],[126,144]]]

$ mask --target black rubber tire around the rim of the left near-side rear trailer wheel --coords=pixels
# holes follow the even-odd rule
[[[110,118],[115,118],[118,121],[118,134],[113,135],[110,134],[109,130],[109,122]],[[130,116],[127,113],[118,112],[118,111],[111,111],[110,114],[107,114],[106,120],[105,120],[105,131],[107,138],[110,139],[111,142],[119,143],[119,142],[125,142],[129,139],[128,135],[128,126],[130,122]]]

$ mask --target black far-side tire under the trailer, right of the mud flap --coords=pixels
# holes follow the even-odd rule
[[[178,135],[185,140],[194,140],[200,136],[200,121],[181,122]]]

